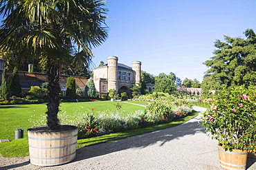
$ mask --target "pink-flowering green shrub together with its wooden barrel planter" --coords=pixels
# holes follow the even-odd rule
[[[219,142],[224,169],[246,167],[247,151],[256,147],[256,88],[223,88],[201,118],[205,130]],[[229,157],[231,156],[231,157]],[[234,156],[240,156],[241,160]]]

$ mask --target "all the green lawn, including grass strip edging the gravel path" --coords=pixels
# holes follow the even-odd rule
[[[60,109],[66,111],[68,114],[74,114],[76,111],[87,111],[88,109],[94,109],[94,113],[98,114],[98,111],[105,111],[106,109],[115,109],[113,104],[120,102],[87,102],[87,103],[62,103]],[[131,103],[138,103],[133,101]],[[125,114],[129,114],[136,110],[143,110],[145,107],[138,105],[131,105],[129,103],[121,103],[121,111],[124,111]],[[1,131],[0,139],[8,138],[11,142],[2,142],[0,143],[0,155],[5,157],[17,157],[17,156],[28,156],[28,137],[26,130],[29,127],[32,127],[33,123],[28,121],[31,116],[34,119],[40,119],[46,111],[46,105],[6,105],[0,106],[0,120],[1,120]],[[94,138],[86,138],[77,140],[77,147],[84,147],[88,145],[95,145],[100,142],[107,142],[110,140],[118,140],[120,138],[127,138],[129,136],[134,136],[138,134],[144,134],[151,131],[156,131],[160,129],[165,129],[168,127],[174,127],[176,125],[181,125],[186,121],[190,120],[197,116],[196,111],[188,115],[185,118],[179,120],[174,120],[171,123],[166,123],[163,125],[157,125],[154,127],[147,127],[142,129],[134,129],[129,131],[123,131],[116,134],[107,134],[104,136],[97,136]],[[15,129],[22,128],[24,129],[24,138],[15,139]]]

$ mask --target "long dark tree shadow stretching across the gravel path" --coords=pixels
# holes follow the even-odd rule
[[[156,142],[160,142],[160,146],[163,146],[165,142],[169,142],[170,140],[179,139],[183,136],[190,136],[200,132],[203,133],[204,129],[199,125],[198,120],[198,118],[194,118],[192,121],[188,121],[187,123],[176,127],[82,147],[77,149],[77,156],[74,161],[102,156],[125,149],[144,148],[149,145],[154,145]]]

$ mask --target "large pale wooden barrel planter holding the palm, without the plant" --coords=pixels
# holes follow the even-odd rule
[[[78,128],[62,125],[61,131],[47,127],[28,129],[30,163],[39,166],[65,164],[75,159]]]

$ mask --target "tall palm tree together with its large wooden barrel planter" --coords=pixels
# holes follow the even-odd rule
[[[77,127],[60,125],[60,70],[88,67],[91,47],[107,39],[101,0],[0,1],[0,50],[17,61],[39,59],[48,75],[47,126],[28,129],[30,162],[51,166],[75,158]]]

